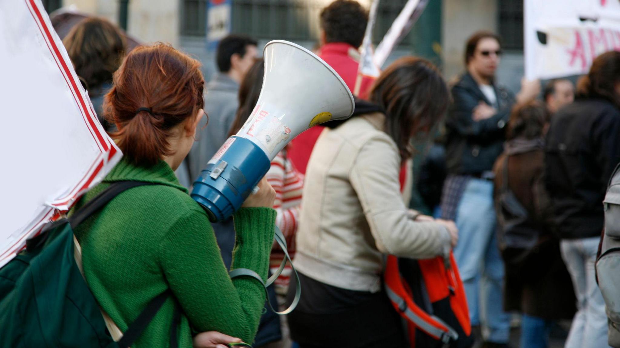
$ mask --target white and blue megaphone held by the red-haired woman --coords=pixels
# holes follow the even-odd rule
[[[263,52],[265,74],[258,102],[239,132],[228,138],[193,183],[192,198],[211,222],[241,207],[273,158],[306,129],[353,113],[353,95],[321,58],[283,40]]]

